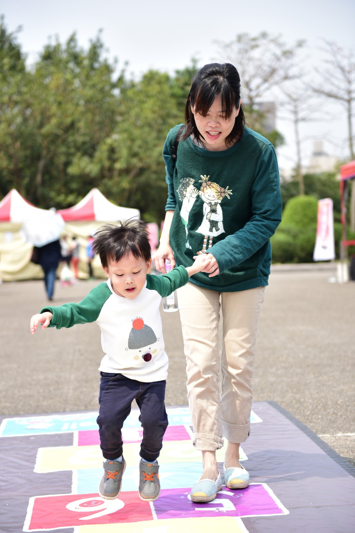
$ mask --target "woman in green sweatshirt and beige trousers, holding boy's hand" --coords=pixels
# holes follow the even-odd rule
[[[168,203],[155,266],[164,272],[166,259],[173,268],[175,262],[188,266],[197,254],[212,260],[178,295],[193,443],[203,459],[203,473],[191,490],[193,502],[209,502],[222,488],[216,461],[222,437],[228,441],[227,487],[249,484],[239,447],[250,432],[254,347],[270,273],[269,239],[281,220],[275,150],[245,127],[240,87],[232,64],[205,65],[191,85],[176,160],[171,155],[179,126],[169,132],[163,149]],[[187,177],[199,194],[184,225],[176,192]]]

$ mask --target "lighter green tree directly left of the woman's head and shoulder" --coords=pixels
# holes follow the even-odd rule
[[[168,74],[150,70],[126,83],[115,129],[88,168],[92,176],[102,176],[102,192],[138,208],[146,220],[162,219],[167,195],[162,148],[169,129],[182,120]]]

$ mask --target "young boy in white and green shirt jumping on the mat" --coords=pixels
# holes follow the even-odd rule
[[[106,224],[95,233],[95,254],[106,276],[79,303],[46,306],[31,318],[31,333],[47,326],[57,329],[94,322],[101,328],[105,356],[101,374],[97,423],[106,461],[99,492],[114,499],[121,490],[126,462],[121,429],[135,399],[143,427],[139,463],[139,496],[153,502],[160,494],[156,459],[168,426],[164,405],[168,356],[164,351],[159,306],[161,298],[185,285],[209,261],[197,256],[192,266],[178,266],[163,276],[151,276],[151,248],[145,223],[129,220]]]

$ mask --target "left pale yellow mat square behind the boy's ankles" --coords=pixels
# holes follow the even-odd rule
[[[140,459],[139,445],[126,444],[125,459],[128,465],[137,465]],[[102,468],[104,460],[100,446],[97,445],[38,448],[34,472]]]

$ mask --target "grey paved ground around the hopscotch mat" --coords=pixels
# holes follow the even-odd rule
[[[331,269],[274,267],[260,317],[254,399],[274,400],[355,465],[355,282],[328,283]],[[79,301],[98,282],[57,282],[54,304]],[[31,336],[30,317],[47,303],[42,281],[3,283],[0,302],[0,414],[96,410],[98,326]],[[186,405],[179,316],[162,316],[166,402]]]

